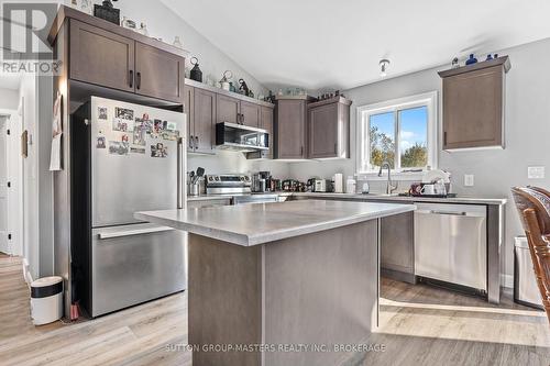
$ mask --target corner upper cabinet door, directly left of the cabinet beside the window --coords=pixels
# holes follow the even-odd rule
[[[275,158],[304,159],[307,156],[306,99],[278,98],[275,107]]]

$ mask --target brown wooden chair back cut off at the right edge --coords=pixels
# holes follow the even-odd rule
[[[550,322],[550,192],[537,187],[512,189],[527,235],[537,286]]]

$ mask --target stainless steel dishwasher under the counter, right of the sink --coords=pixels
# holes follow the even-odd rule
[[[487,291],[485,206],[416,203],[415,274]]]

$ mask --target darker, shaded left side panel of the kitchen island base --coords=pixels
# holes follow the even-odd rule
[[[258,344],[262,339],[261,246],[189,234],[189,344]],[[222,350],[224,351],[224,350]],[[257,366],[255,352],[194,352],[194,365]]]

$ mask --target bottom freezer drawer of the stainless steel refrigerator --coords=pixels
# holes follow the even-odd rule
[[[91,315],[186,288],[185,234],[154,224],[92,231]]]

